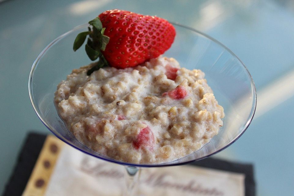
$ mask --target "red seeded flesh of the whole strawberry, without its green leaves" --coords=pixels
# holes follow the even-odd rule
[[[103,55],[111,66],[133,67],[156,58],[171,47],[175,28],[154,16],[108,10],[99,15],[104,35],[110,37]]]

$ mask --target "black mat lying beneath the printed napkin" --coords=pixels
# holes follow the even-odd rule
[[[14,168],[2,196],[19,196],[25,189],[32,173],[36,160],[46,139],[45,134],[29,133],[19,154]],[[255,182],[252,164],[241,164],[225,160],[206,158],[191,165],[204,168],[213,168],[223,171],[232,171],[245,174],[245,196],[255,196]]]

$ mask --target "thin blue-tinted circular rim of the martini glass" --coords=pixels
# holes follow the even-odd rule
[[[179,27],[182,27],[182,28],[186,28],[186,29],[188,29],[188,30],[191,30],[191,31],[193,31],[193,32],[195,32],[195,33],[197,33],[197,34],[199,34],[199,35],[201,35],[201,36],[204,36],[204,37],[206,37],[207,39],[209,39],[209,40],[211,40],[211,41],[217,43],[218,45],[220,45],[221,47],[223,47],[226,51],[228,51],[231,55],[233,55],[234,57],[236,57],[236,58],[239,60],[239,62],[241,62],[241,64],[242,64],[243,67],[245,68],[245,70],[247,71],[247,74],[248,74],[248,76],[249,76],[249,78],[250,78],[250,81],[251,81],[251,86],[252,86],[252,88],[253,88],[253,94],[254,94],[254,100],[253,100],[253,102],[254,102],[254,103],[253,103],[253,107],[251,108],[250,117],[248,118],[247,123],[245,124],[243,130],[242,130],[242,131],[239,133],[239,135],[238,135],[236,138],[234,138],[230,143],[228,143],[226,146],[224,146],[223,148],[221,148],[221,149],[219,149],[219,150],[217,150],[217,151],[215,151],[215,152],[213,152],[213,153],[210,153],[210,154],[205,155],[205,156],[198,157],[198,158],[196,158],[196,159],[194,159],[194,160],[188,160],[188,161],[185,161],[185,162],[178,162],[178,160],[184,158],[184,157],[182,157],[182,158],[180,158],[180,159],[178,159],[178,160],[173,160],[173,161],[171,161],[171,162],[164,162],[164,163],[157,163],[157,164],[132,164],[132,163],[123,162],[123,161],[119,161],[119,160],[115,160],[115,159],[111,159],[111,158],[107,159],[105,156],[100,155],[100,154],[98,154],[98,153],[92,151],[91,149],[90,149],[90,150],[91,150],[93,153],[96,153],[97,155],[95,155],[95,154],[91,154],[91,153],[89,153],[89,152],[86,152],[86,151],[84,151],[84,150],[78,148],[77,146],[71,144],[69,141],[67,141],[67,140],[65,140],[65,139],[63,139],[63,138],[61,138],[58,134],[56,134],[53,130],[51,130],[51,129],[49,128],[49,126],[47,125],[47,123],[41,118],[41,116],[40,116],[40,114],[38,113],[38,110],[37,110],[37,108],[36,108],[36,105],[35,105],[35,102],[34,102],[34,99],[33,99],[33,96],[32,96],[32,85],[31,85],[31,82],[32,82],[32,75],[33,75],[33,73],[34,73],[34,70],[35,70],[36,66],[38,65],[38,62],[39,62],[40,58],[45,54],[45,52],[46,52],[51,46],[53,46],[55,43],[57,43],[59,40],[61,40],[63,37],[65,37],[66,35],[70,34],[71,32],[73,32],[73,31],[75,31],[75,30],[77,30],[77,29],[79,29],[79,28],[81,28],[81,27],[89,26],[88,24],[79,25],[79,26],[73,28],[72,30],[70,30],[70,31],[68,31],[68,32],[66,32],[66,33],[64,33],[64,34],[62,34],[61,36],[58,36],[55,40],[53,40],[51,43],[49,43],[49,44],[48,44],[48,45],[47,45],[47,46],[41,51],[41,53],[38,55],[38,57],[36,58],[36,60],[34,61],[33,65],[32,65],[32,68],[31,68],[31,71],[30,71],[30,75],[29,75],[29,81],[28,81],[28,91],[29,91],[29,96],[30,96],[30,100],[31,100],[32,106],[33,106],[33,108],[34,108],[34,110],[35,110],[37,116],[38,116],[39,119],[42,121],[42,123],[43,123],[43,124],[47,127],[47,129],[49,129],[49,130],[50,130],[50,131],[51,131],[51,132],[52,132],[57,138],[59,138],[60,140],[62,140],[62,141],[65,142],[66,144],[68,144],[68,145],[74,147],[75,149],[77,149],[77,150],[79,150],[79,151],[81,151],[81,152],[86,153],[86,154],[91,155],[91,156],[94,156],[94,157],[96,157],[96,158],[99,158],[99,159],[105,160],[105,161],[109,161],[109,162],[112,162],[112,163],[121,164],[121,165],[125,165],[125,166],[130,166],[130,167],[164,167],[164,166],[176,166],[176,165],[189,164],[189,163],[193,163],[193,162],[198,161],[198,160],[205,159],[205,158],[207,158],[207,157],[209,157],[209,156],[212,156],[212,155],[214,155],[214,154],[216,154],[216,153],[218,153],[218,152],[220,152],[220,151],[226,149],[226,148],[229,147],[230,145],[232,145],[232,144],[233,144],[237,139],[239,139],[239,138],[241,137],[241,135],[243,135],[243,133],[247,130],[247,128],[248,128],[248,126],[250,125],[250,123],[251,123],[251,121],[252,121],[252,119],[253,119],[253,116],[254,116],[254,114],[255,114],[255,110],[256,110],[256,102],[257,102],[257,96],[256,96],[256,88],[255,88],[255,84],[254,84],[254,81],[253,81],[253,79],[252,79],[252,77],[251,77],[251,74],[249,73],[249,71],[248,71],[247,67],[244,65],[244,63],[243,63],[243,62],[242,62],[242,61],[241,61],[241,60],[240,60],[240,59],[239,59],[239,58],[238,58],[238,57],[237,57],[237,56],[236,56],[236,55],[235,55],[235,54],[234,54],[229,48],[228,48],[228,47],[226,47],[224,44],[220,43],[219,41],[217,41],[217,40],[214,39],[213,37],[211,37],[211,36],[209,36],[209,35],[206,35],[205,33],[200,32],[200,31],[198,31],[198,30],[196,30],[196,29],[194,29],[194,28],[191,28],[191,27],[189,27],[189,26],[186,26],[186,25],[181,25],[181,24],[176,23],[176,22],[170,22],[170,23],[171,23],[172,25],[179,26]],[[103,156],[103,157],[101,157],[101,156]],[[187,156],[188,156],[188,155],[187,155]],[[105,158],[104,158],[104,157],[105,157]]]

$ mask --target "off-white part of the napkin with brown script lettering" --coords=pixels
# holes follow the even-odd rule
[[[64,145],[46,196],[122,195],[125,168]],[[143,168],[138,195],[243,196],[244,174],[195,166]]]

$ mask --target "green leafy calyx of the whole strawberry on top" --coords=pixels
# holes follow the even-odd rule
[[[105,28],[102,27],[99,17],[89,21],[89,25],[92,26],[92,29],[88,27],[89,31],[79,33],[74,40],[73,46],[74,51],[79,49],[85,42],[87,35],[89,35],[85,45],[85,51],[92,61],[95,61],[98,57],[99,61],[94,67],[88,70],[87,75],[91,75],[93,71],[99,70],[101,67],[108,66],[108,62],[104,58],[101,50],[104,51],[109,42],[109,37],[103,35]]]

